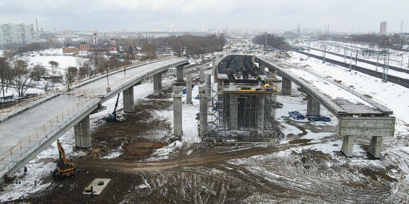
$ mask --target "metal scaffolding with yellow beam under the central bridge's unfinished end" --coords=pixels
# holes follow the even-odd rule
[[[270,82],[272,84],[272,82]],[[208,142],[276,137],[276,86],[207,86]]]

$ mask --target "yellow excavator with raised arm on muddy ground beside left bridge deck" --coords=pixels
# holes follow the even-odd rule
[[[60,143],[60,140],[57,140],[57,147],[60,158],[58,160],[55,160],[56,169],[51,172],[54,179],[58,181],[63,177],[78,175],[79,171],[75,168],[74,164],[72,162],[67,162],[65,151]]]

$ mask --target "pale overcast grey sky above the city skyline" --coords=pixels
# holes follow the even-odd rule
[[[0,24],[34,24],[45,30],[90,29],[324,29],[409,31],[409,0],[1,0]]]

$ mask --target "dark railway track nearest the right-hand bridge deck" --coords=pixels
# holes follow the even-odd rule
[[[304,55],[308,55],[308,53],[303,52],[303,51],[297,51],[297,52],[298,52],[298,53],[301,53],[301,54],[304,54]],[[317,59],[319,59],[319,60],[324,60],[323,57],[318,56],[318,55],[313,55],[313,54],[311,54],[311,53],[310,53],[310,57],[317,58]],[[329,63],[331,63],[331,64],[339,65],[339,66],[341,66],[341,67],[346,67],[346,68],[349,69],[349,63],[339,62],[339,61],[337,61],[337,60],[331,60],[331,59],[328,59],[328,58],[325,58],[325,61],[326,61],[326,62],[329,62]],[[351,69],[352,69],[352,70],[355,70],[355,71],[359,71],[359,72],[365,73],[365,74],[367,74],[367,75],[371,75],[371,76],[376,77],[376,78],[383,79],[382,73],[380,73],[380,72],[378,72],[378,71],[374,71],[374,70],[371,70],[371,69],[366,69],[366,68],[359,67],[359,66],[356,66],[356,65],[353,65],[353,64],[351,65]],[[408,79],[396,77],[396,76],[393,76],[393,75],[388,75],[388,81],[389,81],[389,82],[392,82],[392,83],[394,83],[394,84],[399,84],[399,85],[401,85],[401,86],[404,86],[404,87],[406,87],[406,88],[409,88],[409,80],[408,80]]]

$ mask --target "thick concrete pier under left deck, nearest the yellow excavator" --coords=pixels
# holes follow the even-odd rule
[[[87,115],[74,125],[74,143],[78,149],[87,149],[91,146],[90,116]]]

